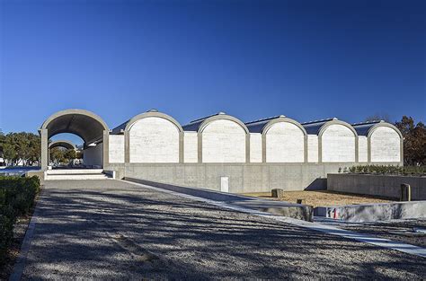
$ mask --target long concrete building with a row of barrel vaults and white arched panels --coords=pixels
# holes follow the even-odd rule
[[[360,163],[403,164],[403,138],[383,121],[299,123],[285,116],[244,123],[223,112],[189,124],[149,110],[113,129],[86,110],[64,110],[40,128],[42,169],[51,136],[84,140],[84,164],[119,178],[230,192],[311,189],[328,172]]]

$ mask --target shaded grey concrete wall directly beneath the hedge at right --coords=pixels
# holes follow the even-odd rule
[[[327,189],[385,198],[400,198],[401,184],[412,187],[412,200],[426,200],[426,177],[329,173]]]

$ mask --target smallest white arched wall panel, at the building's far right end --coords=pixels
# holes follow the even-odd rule
[[[400,137],[391,127],[377,127],[370,136],[371,162],[399,162]]]

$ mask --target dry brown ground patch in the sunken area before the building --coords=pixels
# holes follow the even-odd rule
[[[269,198],[277,200],[277,198],[271,198],[271,192],[257,192],[257,193],[245,193],[245,196],[257,197],[257,198]],[[342,205],[356,205],[356,204],[368,204],[368,203],[388,203],[392,202],[389,198],[377,198],[360,196],[348,193],[335,192],[330,190],[315,190],[315,191],[284,191],[284,197],[281,201],[287,201],[291,203],[297,203],[297,199],[304,199],[303,202],[310,206],[342,206]]]

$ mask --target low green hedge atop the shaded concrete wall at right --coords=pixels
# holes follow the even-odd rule
[[[349,168],[343,172],[363,173],[363,174],[385,174],[385,175],[415,175],[426,176],[426,166],[385,166],[385,165],[359,165]],[[339,171],[340,172],[340,171]]]

